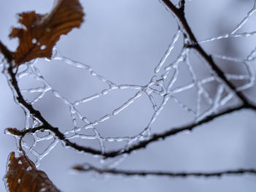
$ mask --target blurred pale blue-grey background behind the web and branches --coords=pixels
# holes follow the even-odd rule
[[[59,52],[67,58],[91,66],[95,72],[115,82],[117,85],[146,85],[154,74],[154,68],[165,53],[167,46],[177,31],[177,22],[170,12],[157,0],[111,0],[81,1],[86,12],[86,21],[67,36],[61,36],[57,43]],[[177,3],[177,1],[173,1]],[[230,33],[252,9],[253,0],[186,1],[186,17],[195,37],[199,41]],[[11,27],[18,25],[17,13],[35,10],[49,12],[52,0],[9,0],[1,1],[0,39],[10,50],[18,46],[17,39],[8,39]],[[255,15],[238,33],[255,31]],[[167,62],[174,61],[183,46],[182,38]],[[246,58],[255,47],[255,37],[228,38],[206,42],[202,47],[207,53]],[[195,55],[191,56],[192,66],[198,75],[208,75],[206,66]],[[243,64],[217,60],[219,66],[230,74],[244,74]],[[77,101],[107,86],[89,75],[62,61],[37,61],[37,67],[50,85],[69,101]],[[254,66],[255,67],[255,66]],[[180,70],[178,85],[191,82],[186,68]],[[236,82],[241,83],[241,82]],[[24,128],[23,110],[15,104],[4,74],[0,75],[0,177],[4,177],[7,156],[16,150],[15,139],[4,134],[4,128]],[[20,82],[21,88],[37,87],[32,78]],[[209,93],[216,92],[217,85],[207,85]],[[135,91],[116,90],[99,99],[81,104],[78,109],[92,122],[112,112],[116,107],[135,95]],[[255,87],[244,91],[255,101]],[[31,99],[33,96],[24,95]],[[197,92],[185,91],[177,95],[189,107],[196,105]],[[161,101],[158,98],[157,101]],[[238,104],[233,99],[228,105]],[[72,129],[69,108],[52,93],[46,93],[34,107],[53,126],[61,131]],[[97,130],[102,137],[132,137],[143,131],[154,110],[146,95],[136,100],[120,114],[100,123]],[[256,167],[256,114],[250,110],[234,112],[217,118],[192,132],[182,132],[165,141],[155,142],[146,150],[132,153],[116,168],[132,170],[169,171],[216,171],[236,168]],[[192,122],[193,115],[174,101],[168,101],[152,132],[159,133],[174,126]],[[89,134],[85,133],[85,134]],[[27,138],[29,139],[29,138]],[[75,139],[80,145],[98,147],[97,140]],[[38,150],[48,145],[42,142]],[[121,142],[106,142],[106,150],[122,147]],[[40,148],[41,147],[41,148]],[[31,157],[32,158],[32,157]],[[111,160],[114,161],[115,159]],[[121,177],[94,173],[78,174],[71,170],[75,164],[85,162],[100,166],[99,158],[77,153],[58,143],[42,159],[39,169],[46,172],[50,180],[61,190],[71,191],[255,191],[256,177],[252,175],[224,176],[212,178],[169,178],[169,177]],[[4,182],[0,191],[5,191]]]

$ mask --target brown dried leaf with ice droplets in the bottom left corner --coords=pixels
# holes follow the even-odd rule
[[[15,158],[14,152],[9,156],[5,180],[10,192],[60,192],[26,155]]]

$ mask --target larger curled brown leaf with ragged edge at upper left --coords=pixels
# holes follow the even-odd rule
[[[19,45],[14,53],[16,66],[34,58],[50,58],[53,46],[61,34],[79,28],[83,22],[83,8],[78,0],[59,0],[49,14],[36,12],[19,14],[24,28],[12,28],[10,38],[18,37]]]

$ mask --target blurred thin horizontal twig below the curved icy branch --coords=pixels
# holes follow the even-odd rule
[[[234,169],[220,172],[161,172],[161,171],[129,171],[121,169],[99,169],[89,164],[73,166],[78,172],[97,172],[98,174],[115,174],[125,176],[167,176],[167,177],[221,177],[230,174],[255,174],[256,169]]]

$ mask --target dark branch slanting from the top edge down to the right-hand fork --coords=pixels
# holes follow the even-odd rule
[[[174,4],[170,0],[162,0],[162,2],[173,12],[173,14],[176,16],[178,21],[183,26],[184,31],[186,32],[187,37],[190,40],[190,45],[187,45],[187,47],[191,47],[191,48],[197,50],[197,52],[208,62],[209,66],[211,66],[211,69],[214,72],[216,72],[216,74],[219,76],[219,78],[222,79],[223,82],[225,82],[225,84],[228,86],[228,88],[230,88],[230,90],[234,91],[236,93],[236,96],[238,96],[238,98],[241,99],[241,101],[243,101],[243,103],[246,106],[250,106],[251,108],[256,110],[256,106],[254,104],[252,104],[251,101],[246,99],[246,96],[244,96],[244,93],[236,91],[236,86],[234,86],[232,84],[232,82],[227,80],[227,77],[225,77],[224,72],[222,72],[222,70],[219,68],[219,66],[217,66],[217,64],[215,64],[214,60],[211,58],[211,55],[208,55],[206,53],[206,51],[203,50],[203,48],[198,44],[197,39],[195,38],[195,35],[192,33],[192,30],[191,30],[189,24],[187,23],[187,19],[185,18],[184,3],[182,3],[183,1],[180,1],[180,3],[179,3],[180,8],[177,8],[176,6],[174,6]]]

